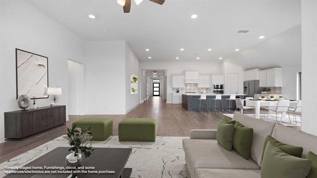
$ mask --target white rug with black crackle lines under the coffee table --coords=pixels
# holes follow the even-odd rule
[[[93,142],[99,148],[132,148],[126,163],[133,168],[131,178],[190,178],[185,165],[182,139],[185,137],[156,137],[156,142],[119,142],[118,136],[106,141]],[[4,166],[23,166],[56,147],[68,147],[62,137],[58,137],[35,149],[23,153],[0,164],[0,177],[5,176]],[[66,156],[66,155],[65,155]]]

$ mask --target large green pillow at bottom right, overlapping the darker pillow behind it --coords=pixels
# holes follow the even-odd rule
[[[310,160],[288,155],[268,141],[262,161],[261,178],[306,178],[310,167]]]

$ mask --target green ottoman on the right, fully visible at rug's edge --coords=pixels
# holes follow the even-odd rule
[[[126,118],[119,123],[119,141],[155,142],[156,120]]]

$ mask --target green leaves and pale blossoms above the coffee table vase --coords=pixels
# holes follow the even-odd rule
[[[67,136],[63,138],[72,146],[68,151],[74,151],[75,156],[78,156],[78,151],[80,150],[85,155],[85,158],[89,157],[94,151],[91,143],[87,146],[87,142],[93,138],[89,130],[90,127],[88,130],[81,130],[81,128],[76,127],[76,125],[71,129],[67,128]]]

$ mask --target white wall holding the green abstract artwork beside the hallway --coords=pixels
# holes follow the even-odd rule
[[[140,62],[136,55],[133,53],[132,49],[126,43],[126,113],[131,111],[135,106],[140,103],[140,93],[141,93],[141,78],[140,75]],[[138,76],[138,94],[131,95],[131,72]]]

